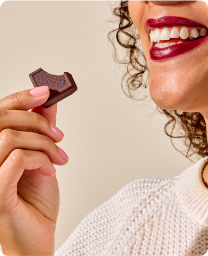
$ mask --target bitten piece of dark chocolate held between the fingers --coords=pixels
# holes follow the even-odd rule
[[[53,75],[42,69],[38,69],[32,72],[29,76],[34,87],[48,86],[50,96],[44,103],[45,108],[65,99],[77,90],[74,79],[68,72],[64,72],[63,75]]]

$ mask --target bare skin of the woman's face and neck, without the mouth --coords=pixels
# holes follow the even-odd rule
[[[150,36],[145,21],[161,16],[180,16],[204,24],[208,28],[208,6],[200,0],[129,0],[129,14],[141,37],[150,68],[150,96],[165,109],[201,113],[208,124],[208,40],[189,52],[152,61]],[[207,133],[208,134],[208,133]],[[208,165],[203,179],[208,187]]]

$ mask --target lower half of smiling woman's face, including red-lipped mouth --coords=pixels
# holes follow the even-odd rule
[[[129,0],[128,6],[149,64],[153,101],[166,109],[208,113],[206,3],[200,0]],[[154,41],[151,42],[152,30]],[[155,46],[158,43],[166,45]]]

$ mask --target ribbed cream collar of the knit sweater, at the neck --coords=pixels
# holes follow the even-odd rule
[[[202,180],[204,166],[208,157],[184,170],[175,183],[175,191],[179,203],[195,219],[208,225],[208,189]]]

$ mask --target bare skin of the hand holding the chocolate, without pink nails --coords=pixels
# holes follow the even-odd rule
[[[59,189],[51,163],[65,165],[56,125],[57,104],[30,90],[0,100],[0,243],[7,256],[54,255]],[[31,112],[27,110],[32,109]]]

